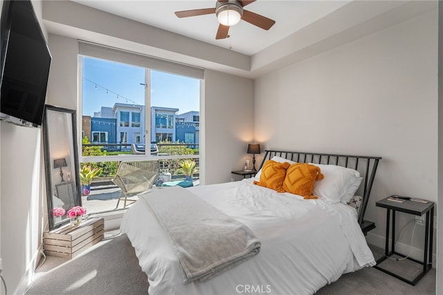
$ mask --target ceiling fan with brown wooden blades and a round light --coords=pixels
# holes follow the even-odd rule
[[[275,24],[273,19],[243,9],[244,6],[255,1],[256,0],[218,0],[215,3],[215,8],[177,11],[175,15],[177,15],[177,17],[196,17],[197,15],[210,15],[215,13],[219,21],[219,28],[215,39],[225,39],[228,37],[229,27],[237,24],[240,19],[264,30],[269,30],[271,26]]]

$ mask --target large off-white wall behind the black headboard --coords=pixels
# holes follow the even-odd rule
[[[275,149],[383,157],[365,215],[377,224],[368,239],[380,243],[377,200],[437,201],[437,11],[255,80],[254,129]],[[400,216],[400,229],[410,219]]]

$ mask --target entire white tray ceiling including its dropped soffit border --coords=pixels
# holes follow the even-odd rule
[[[257,0],[245,9],[276,21],[268,31],[246,21],[216,40],[215,15],[179,19],[175,11],[211,8],[215,0],[43,1],[48,33],[247,78],[281,69],[395,26],[437,1]],[[228,48],[232,46],[232,50]]]

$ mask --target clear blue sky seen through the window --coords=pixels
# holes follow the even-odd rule
[[[91,57],[82,60],[83,116],[93,116],[116,102],[145,105],[144,68]],[[174,107],[177,114],[199,111],[199,79],[153,70],[151,84],[153,107]]]

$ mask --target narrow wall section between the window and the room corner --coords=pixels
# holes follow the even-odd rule
[[[201,125],[204,143],[204,184],[230,181],[248,159],[253,142],[253,80],[205,71]],[[250,156],[250,155],[249,155]]]

